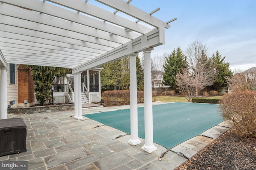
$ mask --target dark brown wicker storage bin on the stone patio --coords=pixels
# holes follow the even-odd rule
[[[0,120],[0,156],[26,152],[27,129],[23,119]]]

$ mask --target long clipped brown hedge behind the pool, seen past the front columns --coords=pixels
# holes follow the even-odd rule
[[[130,90],[108,90],[102,92],[104,104],[107,106],[119,106],[130,104]],[[138,103],[144,102],[144,92],[137,91]]]

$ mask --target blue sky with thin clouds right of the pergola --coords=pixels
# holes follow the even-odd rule
[[[256,0],[132,0],[130,4],[162,21],[165,44],[155,47],[152,57],[170,54],[178,46],[186,51],[193,41],[208,47],[208,56],[217,50],[230,68],[256,67]]]

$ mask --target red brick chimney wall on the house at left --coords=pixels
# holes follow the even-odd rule
[[[25,65],[18,67],[18,98],[19,104],[23,104],[24,100],[28,100],[29,105],[35,102],[32,72]]]

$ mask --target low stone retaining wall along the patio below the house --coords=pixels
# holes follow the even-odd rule
[[[52,111],[65,111],[73,110],[74,104],[64,104],[64,105],[54,105],[54,106],[34,106],[34,107],[14,107],[8,108],[8,115],[13,114],[30,114],[30,113],[42,113],[42,112],[52,112]]]

